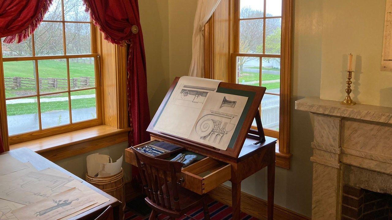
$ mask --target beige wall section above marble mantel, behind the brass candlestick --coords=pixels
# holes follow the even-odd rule
[[[322,2],[321,98],[344,99],[347,54],[352,52],[354,101],[392,107],[392,72],[380,71],[385,0]]]

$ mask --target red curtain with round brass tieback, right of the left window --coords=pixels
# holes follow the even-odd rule
[[[116,44],[129,44],[127,63],[127,95],[129,146],[149,140],[150,123],[147,97],[147,73],[143,34],[140,27],[138,0],[83,0],[94,23],[104,38]]]

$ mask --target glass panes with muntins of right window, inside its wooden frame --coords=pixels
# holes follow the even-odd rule
[[[261,120],[269,136],[279,137],[281,77],[281,0],[239,0],[236,82],[267,87]],[[265,13],[264,13],[265,12]],[[253,126],[255,128],[256,122]]]

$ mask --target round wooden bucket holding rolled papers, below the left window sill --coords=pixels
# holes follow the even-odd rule
[[[108,177],[92,177],[86,173],[86,181],[96,188],[118,199],[123,204],[125,210],[125,192],[124,192],[124,173],[121,168],[120,173]],[[124,219],[124,216],[123,216]]]

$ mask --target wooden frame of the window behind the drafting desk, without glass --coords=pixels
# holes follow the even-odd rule
[[[266,0],[263,1],[265,10]],[[228,11],[227,14],[225,14],[226,11]],[[265,17],[266,14],[263,16]],[[292,157],[290,153],[292,16],[293,0],[282,0],[281,53],[278,55],[281,58],[279,131],[264,128],[265,135],[278,139],[278,143],[276,144],[276,166],[287,169],[290,169],[290,159]],[[222,23],[226,25],[224,29],[222,29]],[[265,29],[265,27],[263,28]],[[216,11],[204,26],[205,78],[236,83],[237,56],[257,56],[260,57],[260,60],[263,56],[277,57],[276,54],[240,53],[239,30],[240,0],[221,0]],[[226,34],[221,31],[224,31]],[[219,32],[219,36],[215,32]],[[265,32],[263,35],[265,35]],[[222,39],[222,36],[224,39]],[[265,36],[263,36],[263,39],[265,39]],[[228,43],[224,46],[225,48],[220,48],[222,42],[225,43],[226,41]],[[227,54],[227,58],[222,54]],[[224,70],[221,71],[217,69],[216,63],[220,63],[220,65],[228,63],[228,67],[224,66]],[[228,70],[227,75],[222,74],[226,69]],[[255,128],[255,126],[252,126],[252,129]]]

